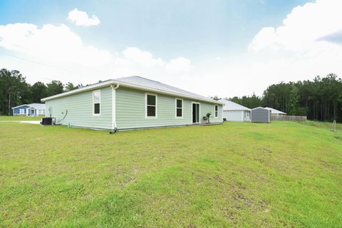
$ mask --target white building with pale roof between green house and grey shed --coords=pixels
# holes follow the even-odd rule
[[[251,121],[251,110],[230,100],[221,99],[223,106],[223,119],[226,121],[244,122]]]

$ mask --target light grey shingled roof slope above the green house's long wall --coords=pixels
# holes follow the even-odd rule
[[[164,83],[160,83],[159,81],[153,81],[147,78],[142,78],[140,76],[130,76],[130,77],[124,77],[124,78],[116,78],[114,81],[122,82],[122,83],[128,83],[135,86],[142,86],[145,88],[152,88],[157,90],[162,90],[169,93],[178,93],[180,95],[190,96],[194,98],[199,98],[201,100],[209,100],[212,101],[212,99],[206,98],[203,95],[198,95],[196,93],[191,93],[187,90],[182,90],[180,88],[176,88],[173,86],[166,85]]]

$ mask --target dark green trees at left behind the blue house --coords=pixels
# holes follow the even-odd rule
[[[30,85],[19,71],[0,70],[0,115],[11,115],[11,108],[28,103],[41,103],[41,98],[63,93],[82,87],[73,83],[63,84],[61,81]]]

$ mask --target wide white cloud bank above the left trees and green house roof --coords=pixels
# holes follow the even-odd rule
[[[11,56],[0,55],[0,68],[17,69],[27,76],[28,82],[72,81],[94,83],[98,80],[119,76],[140,75],[156,80],[157,77],[172,76],[166,66],[177,66],[177,62],[156,58],[148,51],[128,47],[117,53],[88,46],[68,26],[46,24],[41,28],[34,24],[7,24],[0,26],[0,51],[4,49]],[[31,61],[31,62],[30,62]],[[41,63],[41,64],[37,64]],[[190,61],[186,62],[190,65]],[[183,64],[184,65],[184,64]],[[179,72],[189,71],[190,66],[178,67]],[[45,79],[44,79],[45,78]]]

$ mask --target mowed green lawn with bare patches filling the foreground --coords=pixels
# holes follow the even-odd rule
[[[0,226],[341,227],[342,131],[324,126],[0,123]]]

